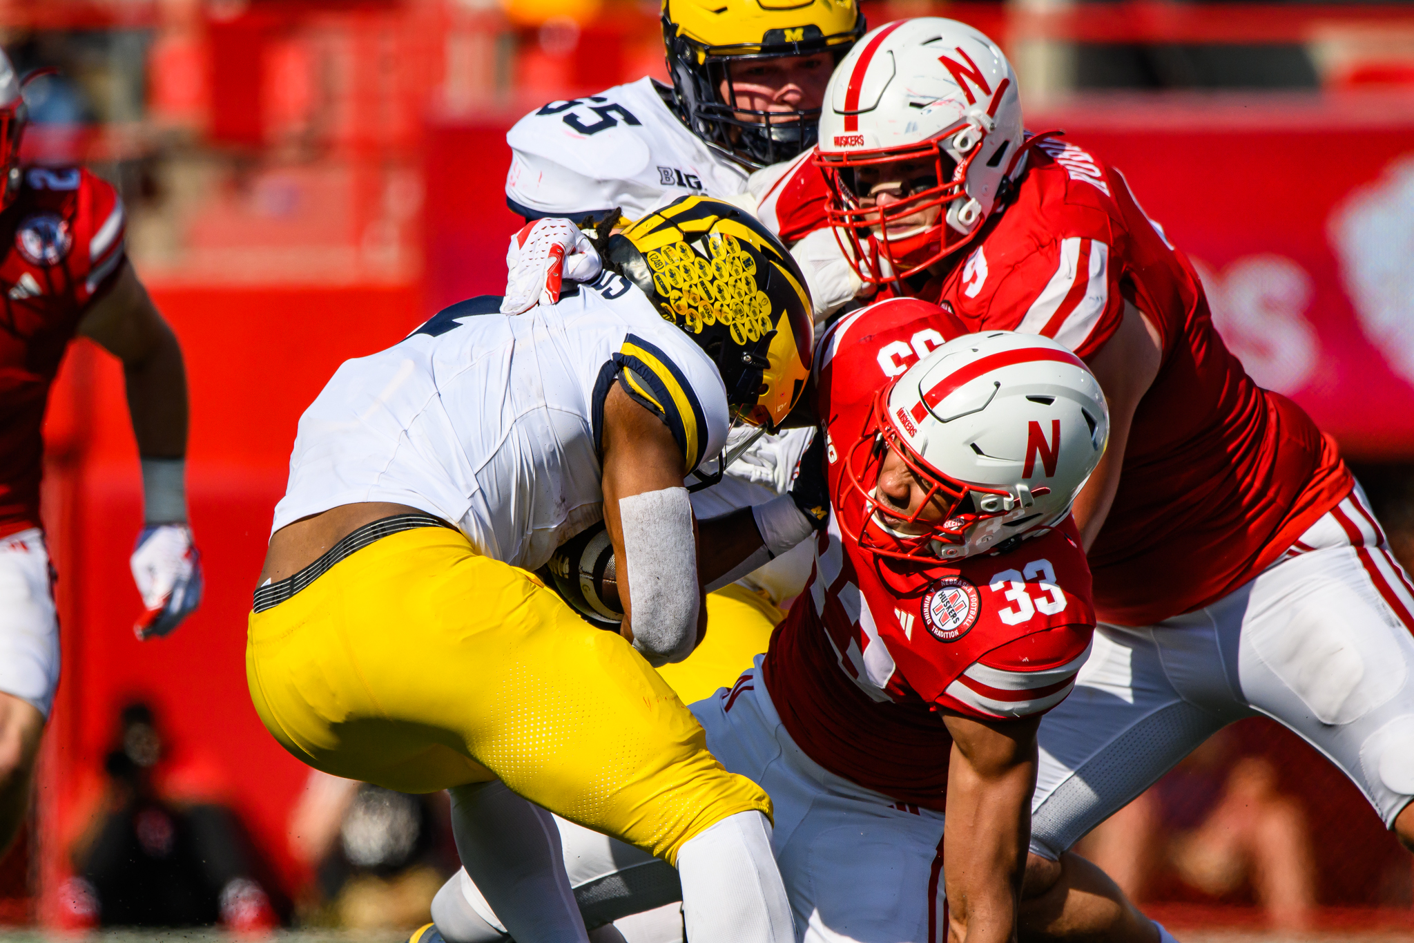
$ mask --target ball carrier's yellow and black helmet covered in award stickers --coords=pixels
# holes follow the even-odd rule
[[[810,376],[810,293],[795,259],[754,216],[682,197],[609,236],[605,264],[707,352],[732,414],[775,430]]]

